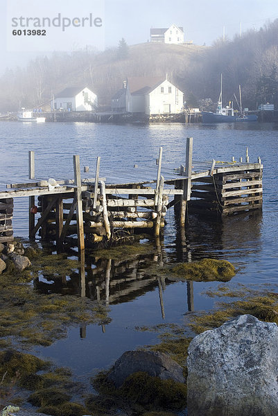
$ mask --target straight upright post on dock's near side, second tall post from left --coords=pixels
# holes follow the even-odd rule
[[[76,184],[76,219],[77,219],[77,236],[78,236],[78,250],[85,249],[84,241],[84,225],[83,225],[83,211],[82,211],[82,189],[81,189],[81,173],[80,173],[80,157],[73,156],[74,168],[74,182]]]

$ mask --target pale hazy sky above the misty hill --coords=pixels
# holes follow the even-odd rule
[[[12,38],[12,41],[22,42],[23,46],[11,51],[10,45],[7,45],[13,29],[11,15],[8,15],[11,4],[13,15],[15,10],[23,15],[21,6],[24,4],[28,6],[28,16],[41,14],[51,19],[59,12],[67,17],[76,17],[78,13],[80,18],[92,12],[93,17],[101,15],[103,31],[93,31],[95,28],[92,28],[89,33],[89,28],[86,31],[85,28],[68,28],[65,31],[60,28],[58,32],[58,28],[51,28],[48,29],[49,36],[44,37],[43,41],[42,37],[37,36],[33,39],[23,39],[22,36],[20,39]],[[100,4],[104,4],[105,10],[99,8]],[[186,40],[210,45],[222,37],[223,26],[226,37],[232,39],[239,33],[240,27],[244,33],[252,28],[259,29],[266,21],[278,18],[278,0],[233,0],[226,3],[223,0],[0,0],[0,6],[0,74],[6,67],[24,66],[35,55],[49,53],[46,49],[61,49],[65,36],[68,51],[85,47],[86,44],[116,46],[122,37],[128,44],[137,44],[148,41],[151,27],[166,28],[174,23],[184,27]],[[97,37],[103,42],[96,42],[99,40]],[[32,47],[28,47],[27,43],[34,46],[35,51],[30,51]]]

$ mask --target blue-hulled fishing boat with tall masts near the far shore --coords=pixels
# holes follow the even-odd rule
[[[241,102],[241,86],[239,86],[239,95]],[[236,98],[236,96],[235,96]],[[237,100],[236,100],[237,101]],[[257,121],[256,114],[248,114],[247,111],[242,110],[242,104],[239,106],[239,112],[234,114],[233,102],[230,101],[229,105],[223,107],[222,105],[222,74],[221,74],[221,89],[220,96],[218,98],[218,105],[216,112],[202,111],[203,123],[234,123],[234,121]]]

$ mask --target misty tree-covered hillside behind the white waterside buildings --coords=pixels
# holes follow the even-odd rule
[[[0,112],[49,106],[51,96],[66,87],[89,87],[102,107],[130,76],[166,76],[182,89],[189,106],[216,103],[223,75],[223,104],[238,96],[244,107],[278,106],[278,19],[259,31],[212,46],[138,44],[98,52],[89,46],[72,53],[37,57],[25,68],[6,69],[0,78]],[[214,104],[213,104],[214,105]]]

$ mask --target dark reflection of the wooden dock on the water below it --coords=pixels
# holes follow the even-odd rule
[[[134,254],[130,258],[98,257],[94,252],[82,252],[80,267],[70,275],[40,275],[34,287],[40,293],[72,294],[103,302],[107,306],[132,302],[147,293],[157,291],[162,319],[166,317],[164,291],[175,285],[163,275],[152,274],[152,266],[190,262],[204,257],[227,259],[235,266],[261,251],[261,212],[227,218],[202,218],[190,215],[185,228],[177,227],[175,236],[159,243],[153,241],[155,252]],[[119,248],[120,250],[120,248]],[[76,254],[76,253],[75,253]],[[187,281],[187,310],[194,311],[193,282]],[[105,328],[103,328],[103,331]],[[85,329],[82,329],[85,336]]]

